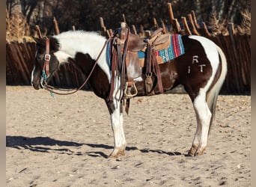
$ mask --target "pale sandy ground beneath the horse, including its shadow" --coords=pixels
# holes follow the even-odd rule
[[[102,99],[6,88],[6,186],[251,186],[251,96],[219,96],[203,156],[186,156],[195,113],[186,94],[132,99],[127,155]]]

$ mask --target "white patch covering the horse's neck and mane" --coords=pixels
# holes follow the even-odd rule
[[[92,59],[96,60],[106,42],[105,37],[100,36],[96,32],[87,31],[67,31],[53,37],[60,44],[59,51],[55,52],[55,56],[60,63],[67,62],[67,58],[75,58],[77,52],[88,54]],[[103,49],[103,53],[100,55],[97,63],[106,73],[110,82],[111,72],[106,62],[106,48]]]

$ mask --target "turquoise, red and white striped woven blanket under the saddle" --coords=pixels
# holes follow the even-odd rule
[[[181,40],[180,34],[171,35],[171,43],[167,49],[160,49],[156,51],[156,59],[159,64],[171,61],[174,58],[177,58],[180,55],[185,53],[183,42]],[[139,51],[138,58],[146,58],[146,52]]]

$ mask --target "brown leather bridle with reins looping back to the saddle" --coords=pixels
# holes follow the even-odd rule
[[[53,96],[53,93],[58,94],[58,95],[69,95],[69,94],[76,93],[77,91],[81,90],[85,86],[85,84],[88,82],[88,80],[90,79],[91,74],[94,72],[97,62],[100,59],[100,55],[102,55],[103,50],[106,47],[106,44],[109,43],[109,40],[106,40],[106,42],[104,43],[103,48],[100,50],[100,53],[94,62],[94,66],[92,67],[91,72],[89,73],[89,75],[87,76],[85,81],[82,83],[82,85],[79,88],[74,88],[74,89],[61,89],[61,88],[54,88],[53,86],[48,85],[46,82],[46,80],[49,76],[49,61],[51,59],[51,55],[49,54],[49,38],[46,37],[46,54],[44,55],[44,63],[43,63],[42,75],[40,78],[40,85],[43,87],[43,89],[45,89],[46,91],[49,91],[52,96]],[[61,93],[61,92],[54,91],[54,90],[65,91],[65,93]]]

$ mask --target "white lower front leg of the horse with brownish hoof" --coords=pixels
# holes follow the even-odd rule
[[[109,158],[118,158],[125,155],[125,147],[127,141],[124,135],[124,119],[123,113],[121,112],[120,100],[113,99],[112,105],[113,110],[109,110],[111,126],[114,133],[114,150],[109,155]]]

